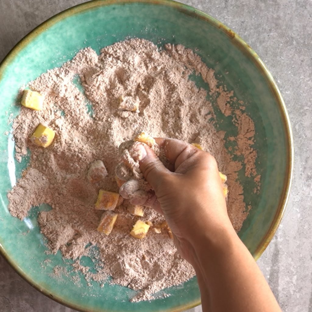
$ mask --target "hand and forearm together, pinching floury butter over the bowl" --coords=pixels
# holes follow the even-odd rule
[[[178,251],[194,266],[203,311],[280,312],[232,227],[216,160],[179,140],[156,142],[170,162],[168,169],[147,145],[135,147],[136,161],[155,192],[144,205],[163,213]]]

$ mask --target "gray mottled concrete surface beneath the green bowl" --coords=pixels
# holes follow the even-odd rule
[[[0,60],[39,23],[81,2],[84,1],[1,0]],[[312,1],[182,2],[207,12],[237,32],[266,63],[284,97],[295,141],[293,185],[281,225],[258,265],[284,312],[312,312]],[[34,290],[1,256],[0,310],[73,311]]]

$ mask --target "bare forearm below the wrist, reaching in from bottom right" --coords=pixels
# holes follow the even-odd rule
[[[281,311],[256,262],[234,230],[224,229],[213,239],[203,234],[194,244],[194,250],[193,265],[197,275],[201,275],[203,311]]]

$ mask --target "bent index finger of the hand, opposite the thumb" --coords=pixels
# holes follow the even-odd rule
[[[159,148],[162,148],[169,162],[174,164],[176,170],[184,161],[200,150],[187,142],[171,138],[155,138]]]

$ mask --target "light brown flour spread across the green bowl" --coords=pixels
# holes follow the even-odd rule
[[[97,232],[102,211],[95,210],[94,204],[100,188],[118,192],[114,171],[121,142],[144,129],[154,137],[200,144],[227,175],[228,213],[236,231],[248,214],[237,181],[242,163],[233,161],[225,149],[225,133],[215,129],[207,91],[189,79],[193,73],[202,76],[222,113],[233,116],[238,131],[237,138],[232,138],[237,142],[236,154],[243,156],[246,176],[256,177],[253,121],[243,107],[232,107],[236,99],[225,87],[217,87],[214,71],[181,45],[168,44],[159,50],[152,42],[132,39],[102,49],[100,56],[85,48],[72,61],[29,83],[45,96],[44,109],[21,107],[13,122],[16,159],[21,161],[27,149],[31,156],[22,178],[8,193],[11,214],[23,219],[32,206],[49,204],[51,211],[40,212],[38,221],[51,251],[60,249],[65,258],[74,259],[74,267],[88,280],[103,283],[112,276],[110,283],[138,290],[133,301],[151,300],[155,292],[195,273],[166,231],[149,231],[143,240],[129,235],[138,219],[163,222],[153,210],[145,208],[144,217],[135,217],[127,212],[124,201],[115,209],[119,215],[112,233]],[[139,105],[138,110],[120,107],[121,99],[127,99],[129,107]],[[46,149],[28,139],[39,123],[56,132]],[[92,184],[86,176],[95,160],[103,161],[108,174]],[[96,273],[80,265],[81,256],[90,255],[89,243],[99,248]]]

